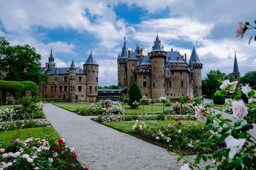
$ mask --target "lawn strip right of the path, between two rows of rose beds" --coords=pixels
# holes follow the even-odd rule
[[[157,127],[163,125],[163,127],[167,127],[168,124],[177,125],[179,122],[182,123],[182,125],[191,125],[191,122],[198,124],[198,127],[203,127],[205,123],[201,123],[198,120],[140,120],[139,123],[144,122],[147,127]],[[156,124],[157,122],[157,124]],[[135,124],[135,121],[124,121],[124,122],[103,122],[102,124],[109,125],[111,127],[114,127],[115,129],[118,129],[120,131],[124,132],[132,132],[132,126]]]

